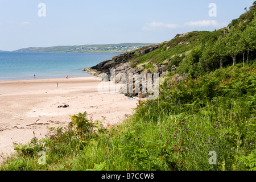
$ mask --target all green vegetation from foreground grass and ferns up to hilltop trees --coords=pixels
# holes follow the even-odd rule
[[[190,32],[131,63],[179,67],[160,84],[156,100],[141,101],[121,125],[105,129],[71,117],[51,135],[15,144],[1,170],[256,170],[256,2],[229,28]],[[247,56],[247,57],[246,57]],[[176,73],[187,80],[172,81]],[[39,151],[46,164],[39,164]],[[210,151],[216,164],[210,164]]]

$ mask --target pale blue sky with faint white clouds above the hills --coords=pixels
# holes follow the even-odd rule
[[[161,43],[214,31],[255,0],[0,0],[0,50]]]

